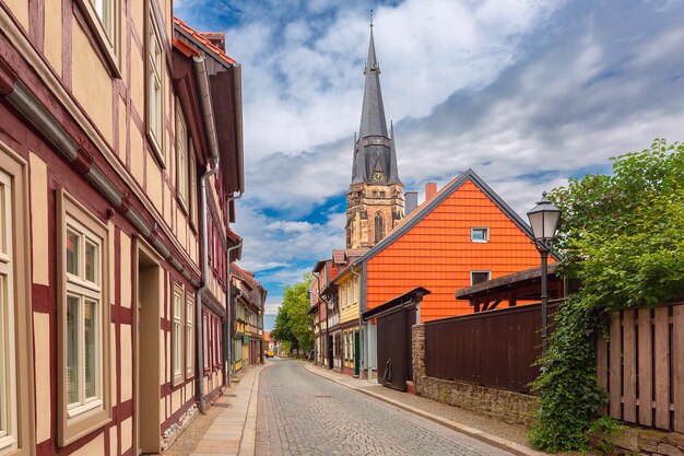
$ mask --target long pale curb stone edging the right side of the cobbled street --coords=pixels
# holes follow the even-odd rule
[[[428,419],[428,420],[431,420],[431,421],[433,421],[435,423],[438,423],[438,424],[441,424],[441,425],[444,425],[446,428],[449,428],[449,429],[451,429],[451,430],[453,430],[456,432],[460,432],[461,434],[468,435],[470,437],[479,440],[480,442],[484,442],[486,444],[495,446],[495,447],[497,447],[499,449],[504,449],[504,451],[510,452],[510,453],[512,453],[515,455],[519,455],[519,456],[543,456],[543,455],[547,455],[549,454],[549,453],[536,452],[534,449],[528,448],[524,445],[520,445],[519,443],[515,443],[515,442],[508,441],[506,439],[502,439],[499,436],[496,436],[496,435],[490,434],[487,432],[481,431],[479,429],[471,428],[471,426],[468,426],[465,424],[461,424],[459,422],[448,420],[448,419],[439,417],[439,416],[437,416],[435,413],[431,413],[428,411],[421,410],[421,409],[417,409],[417,408],[412,407],[412,406],[408,406],[408,405],[402,404],[402,402],[400,402],[398,400],[385,397],[382,395],[378,395],[378,394],[376,394],[374,391],[370,391],[368,389],[359,388],[357,386],[350,385],[349,383],[341,382],[341,381],[339,381],[339,379],[337,379],[337,378],[334,378],[334,377],[332,377],[330,375],[326,375],[325,372],[317,372],[317,371],[319,371],[319,369],[311,366],[309,363],[306,363],[304,365],[304,367],[308,372],[310,372],[311,374],[315,374],[315,375],[318,375],[320,377],[327,378],[327,379],[329,379],[331,382],[334,382],[334,383],[337,383],[339,385],[342,385],[342,386],[345,386],[347,388],[354,389],[354,390],[356,390],[358,393],[363,393],[366,396],[370,396],[370,397],[373,397],[375,399],[378,399],[378,400],[381,400],[384,402],[390,404],[390,405],[392,405],[394,407],[398,407],[398,408],[400,408],[402,410],[405,410],[405,411],[409,411],[411,413],[417,414],[417,416],[423,417],[425,419]]]

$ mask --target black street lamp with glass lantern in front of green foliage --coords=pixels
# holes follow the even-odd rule
[[[530,225],[532,226],[534,244],[542,257],[542,354],[544,354],[546,352],[546,304],[549,301],[546,290],[549,267],[546,260],[561,224],[561,209],[549,201],[544,191],[542,199],[528,212],[528,219],[530,219]]]

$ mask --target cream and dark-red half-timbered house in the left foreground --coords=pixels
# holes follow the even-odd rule
[[[172,3],[0,0],[2,456],[158,453],[224,383],[240,71]]]

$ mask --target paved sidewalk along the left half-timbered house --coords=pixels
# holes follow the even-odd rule
[[[169,456],[253,456],[257,443],[259,374],[270,365],[253,366],[239,376],[165,453]]]

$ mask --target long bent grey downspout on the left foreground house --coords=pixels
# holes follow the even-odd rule
[[[209,223],[207,220],[207,180],[219,171],[219,140],[216,138],[216,129],[214,125],[214,112],[211,105],[211,92],[209,89],[209,75],[207,74],[207,66],[203,57],[193,57],[194,74],[197,78],[197,89],[200,95],[200,107],[203,117],[203,124],[209,142],[209,153],[213,161],[212,167],[200,177],[200,220],[202,221],[201,231],[201,262],[202,262],[202,287],[196,294],[196,321],[200,330],[197,331],[196,342],[198,347],[198,382],[197,394],[199,396],[200,412],[207,413],[207,399],[204,397],[204,347],[203,347],[203,328],[202,328],[202,295],[209,289]]]

